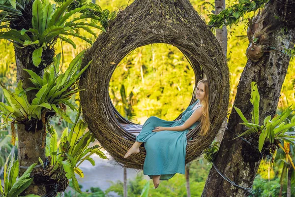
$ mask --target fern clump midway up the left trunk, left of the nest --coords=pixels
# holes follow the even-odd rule
[[[0,116],[5,119],[5,123],[0,128],[5,128],[15,121],[28,121],[31,118],[38,120],[48,111],[54,111],[65,121],[73,123],[69,116],[65,113],[65,105],[72,110],[77,111],[76,107],[68,102],[70,97],[77,93],[77,80],[80,75],[87,69],[91,62],[81,69],[82,56],[85,50],[80,52],[70,63],[64,73],[59,73],[60,54],[54,58],[54,63],[45,71],[43,79],[32,70],[26,70],[31,82],[35,87],[29,87],[24,90],[22,81],[18,83],[15,92],[12,93],[0,84],[7,103],[0,102]],[[27,91],[38,90],[36,98],[31,103],[27,99]],[[59,106],[59,107],[57,107]]]

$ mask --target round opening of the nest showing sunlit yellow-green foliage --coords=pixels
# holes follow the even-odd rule
[[[194,71],[176,47],[150,44],[118,64],[109,95],[121,116],[133,123],[143,124],[150,116],[171,121],[190,103],[194,85]]]

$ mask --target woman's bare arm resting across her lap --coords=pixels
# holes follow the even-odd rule
[[[180,126],[176,126],[176,127],[156,127],[154,130],[152,131],[184,131],[186,129],[188,129],[190,126],[192,126],[195,122],[197,122],[202,116],[202,106],[199,107],[198,109],[196,109],[193,114],[189,117],[189,119],[187,119],[183,125]]]

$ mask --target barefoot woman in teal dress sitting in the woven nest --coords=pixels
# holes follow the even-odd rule
[[[150,117],[143,125],[142,131],[136,137],[136,142],[125,154],[139,153],[139,147],[145,142],[147,151],[144,174],[153,180],[155,188],[159,180],[168,180],[176,173],[184,174],[186,134],[201,122],[201,135],[209,131],[208,114],[208,81],[200,80],[196,88],[197,101],[187,107],[181,120],[165,121]]]

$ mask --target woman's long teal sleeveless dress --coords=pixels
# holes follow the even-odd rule
[[[144,163],[145,175],[148,175],[150,178],[152,178],[152,175],[161,175],[160,180],[168,180],[176,173],[184,174],[185,148],[187,145],[186,134],[200,122],[194,123],[184,131],[153,132],[152,130],[159,126],[176,127],[183,125],[192,115],[195,110],[193,107],[198,102],[199,99],[188,106],[178,121],[166,121],[152,116],[145,122],[142,131],[136,137],[136,141],[145,142],[144,146],[147,152]]]

